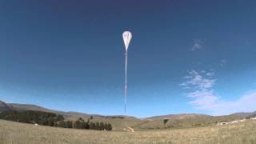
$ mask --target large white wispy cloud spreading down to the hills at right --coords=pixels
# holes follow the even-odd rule
[[[244,94],[235,101],[225,101],[214,93],[217,79],[212,78],[213,76],[214,70],[200,72],[191,70],[184,77],[186,82],[180,84],[189,91],[186,97],[192,99],[190,104],[195,109],[208,110],[214,115],[256,110],[256,91]]]

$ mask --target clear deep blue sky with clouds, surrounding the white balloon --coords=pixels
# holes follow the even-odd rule
[[[256,2],[2,0],[0,100],[87,114],[256,110]]]

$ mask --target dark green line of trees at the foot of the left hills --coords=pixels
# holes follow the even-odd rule
[[[54,114],[37,110],[7,110],[0,113],[0,119],[14,122],[37,123],[42,126],[57,126],[62,128],[87,129],[87,130],[112,130],[110,123],[90,122],[78,118],[76,121],[65,121],[62,114]]]

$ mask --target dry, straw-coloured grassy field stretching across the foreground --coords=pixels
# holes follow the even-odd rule
[[[0,120],[0,143],[256,143],[256,122],[179,130],[140,130],[131,133],[71,130]]]

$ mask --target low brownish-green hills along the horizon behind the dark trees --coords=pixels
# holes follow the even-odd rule
[[[243,116],[230,114],[224,116],[210,116],[206,114],[169,114],[160,115],[150,118],[135,118],[122,115],[104,116],[99,114],[83,114],[78,112],[64,112],[50,110],[41,106],[17,104],[17,103],[0,103],[0,110],[38,110],[55,114],[62,114],[66,120],[76,120],[78,118],[88,119],[91,116],[92,122],[111,123],[113,130],[148,130],[148,129],[180,129],[198,126],[212,126],[217,122],[231,122],[242,119]],[[166,122],[164,122],[166,119]]]

